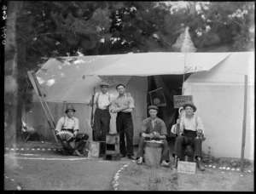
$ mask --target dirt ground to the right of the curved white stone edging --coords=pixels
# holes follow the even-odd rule
[[[224,172],[224,173],[222,173]],[[242,174],[242,176],[241,176]],[[120,191],[254,191],[253,173],[206,168],[178,174],[165,167],[132,163],[119,177]]]

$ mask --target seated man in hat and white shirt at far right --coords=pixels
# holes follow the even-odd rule
[[[178,158],[182,155],[182,150],[185,145],[191,145],[195,148],[195,159],[198,168],[202,171],[205,170],[201,164],[201,143],[205,134],[204,125],[201,121],[201,117],[195,116],[194,112],[196,107],[193,102],[187,102],[184,104],[185,116],[177,119],[179,124],[179,134],[177,134],[177,124],[172,127],[172,133],[177,134],[175,140],[174,151],[172,156],[174,157],[174,163],[172,168],[177,168]]]

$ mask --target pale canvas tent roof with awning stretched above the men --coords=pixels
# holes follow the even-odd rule
[[[116,82],[126,84],[131,76],[183,74],[184,61],[185,73],[207,71],[229,55],[140,53],[60,57],[49,59],[36,75],[47,94],[46,100],[85,102],[90,100],[93,86],[101,81],[98,76],[116,76]]]

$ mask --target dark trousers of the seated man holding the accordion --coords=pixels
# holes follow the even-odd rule
[[[84,151],[84,146],[86,145],[85,140],[88,140],[88,138],[89,138],[88,134],[80,132],[76,136],[74,148],[67,141],[61,140],[61,145],[63,146],[63,149],[67,151],[67,153],[69,154],[73,154],[73,151],[75,150],[78,150],[80,153],[82,153]]]

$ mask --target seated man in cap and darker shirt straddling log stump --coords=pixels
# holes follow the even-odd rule
[[[166,124],[157,117],[158,107],[148,106],[150,117],[143,120],[142,130],[139,133],[140,141],[137,152],[137,164],[143,163],[145,140],[162,140],[161,166],[170,167],[169,146],[166,141]]]

